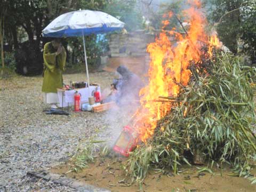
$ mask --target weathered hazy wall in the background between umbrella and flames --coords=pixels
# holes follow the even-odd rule
[[[110,56],[103,70],[115,71],[122,64],[139,76],[144,76],[149,65],[147,45],[154,40],[154,35],[145,34],[144,31],[111,34],[109,39]]]

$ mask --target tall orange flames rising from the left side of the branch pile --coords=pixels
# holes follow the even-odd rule
[[[188,3],[191,5],[190,8],[183,11],[190,25],[187,35],[182,35],[175,29],[165,30],[170,24],[169,19],[174,15],[170,12],[163,15],[163,18],[167,19],[162,22],[161,34],[147,47],[151,59],[148,71],[149,83],[140,90],[141,107],[135,113],[133,121],[133,127],[137,129],[143,142],[153,136],[157,121],[172,107],[171,104],[155,102],[155,100],[159,96],[177,96],[179,85],[186,86],[189,82],[190,61],[200,61],[201,49],[205,42],[209,45],[209,55],[212,55],[212,47],[220,44],[217,36],[209,40],[205,34],[204,27],[207,21],[201,11],[200,1],[188,0]],[[170,37],[174,37],[176,43],[170,40]]]

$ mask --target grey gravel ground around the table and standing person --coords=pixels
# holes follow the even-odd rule
[[[113,73],[91,73],[91,82],[110,85]],[[66,84],[85,73],[65,74]],[[106,127],[106,115],[91,112],[45,115],[42,77],[0,80],[0,191],[74,191],[51,181],[29,178],[27,171],[57,163],[74,153],[82,140]],[[95,131],[97,130],[97,131]]]

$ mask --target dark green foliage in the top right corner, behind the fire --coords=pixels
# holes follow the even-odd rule
[[[238,52],[238,39],[242,40],[242,53],[256,62],[256,2],[243,0],[212,0],[209,19],[217,24],[220,40],[231,52]]]

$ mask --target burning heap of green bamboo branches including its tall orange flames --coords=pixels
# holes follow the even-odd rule
[[[222,52],[217,34],[205,32],[200,2],[189,4],[183,11],[188,28],[179,21],[185,34],[167,30],[170,18],[178,16],[164,14],[161,34],[147,47],[149,83],[140,91],[141,106],[130,125],[139,134],[138,146],[125,165],[139,183],[149,169],[176,174],[193,163],[219,168],[228,163],[245,176],[255,160],[255,69]]]

